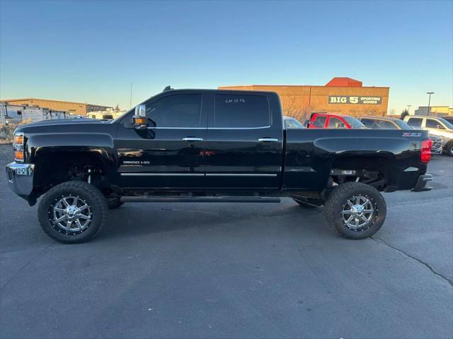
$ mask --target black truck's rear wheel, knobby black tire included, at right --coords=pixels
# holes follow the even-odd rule
[[[348,205],[348,201],[351,199],[355,201],[354,206],[362,206],[360,202],[364,201],[364,199],[359,197],[368,199],[369,203],[366,203],[366,206],[368,207],[360,208]],[[357,200],[355,200],[357,198],[358,203]],[[384,223],[387,210],[382,194],[380,194],[377,189],[374,189],[374,187],[360,182],[347,182],[336,187],[336,189],[328,196],[324,208],[328,224],[337,230],[343,237],[348,239],[365,239],[371,237]],[[354,214],[357,213],[357,208],[360,208],[360,213]],[[373,212],[366,213],[365,211],[367,210],[373,210]],[[348,220],[350,220],[350,218],[353,218],[353,220],[348,222],[348,220],[345,220],[345,215],[350,215]],[[362,216],[367,219],[368,222],[364,222],[361,219]],[[364,223],[362,227],[357,226],[357,219],[360,223]],[[348,226],[352,221],[355,225]]]

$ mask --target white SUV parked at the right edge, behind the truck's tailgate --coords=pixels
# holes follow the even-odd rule
[[[442,147],[453,157],[453,124],[440,117],[408,115],[404,118],[413,129],[424,129],[433,136],[442,136]]]

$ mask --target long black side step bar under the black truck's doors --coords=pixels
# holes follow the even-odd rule
[[[265,196],[194,196],[180,197],[149,197],[122,196],[122,203],[280,203],[280,198]]]

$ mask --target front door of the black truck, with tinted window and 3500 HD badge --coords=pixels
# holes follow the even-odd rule
[[[147,128],[123,119],[117,132],[122,187],[187,189],[205,185],[207,114],[201,93],[164,93],[145,102]]]

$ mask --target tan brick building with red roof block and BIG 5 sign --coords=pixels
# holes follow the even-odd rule
[[[305,119],[313,112],[383,116],[389,105],[388,87],[367,87],[351,78],[333,78],[326,85],[238,85],[225,90],[269,90],[278,93],[283,112]]]

